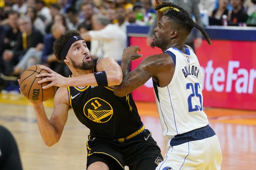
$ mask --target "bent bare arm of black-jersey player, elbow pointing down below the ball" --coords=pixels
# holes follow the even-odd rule
[[[68,118],[69,101],[66,88],[59,88],[57,90],[53,104],[54,110],[49,120],[43,103],[33,103],[37,125],[47,146],[52,146],[59,141]]]

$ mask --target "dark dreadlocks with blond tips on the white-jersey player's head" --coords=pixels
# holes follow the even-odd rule
[[[164,10],[169,10],[165,16],[169,17],[169,19],[173,20],[174,22],[182,25],[185,29],[189,32],[195,27],[199,29],[201,33],[204,35],[204,38],[208,42],[209,45],[212,45],[210,37],[208,36],[207,32],[199,25],[197,25],[189,16],[187,11],[178,5],[175,5],[171,2],[163,2],[161,5],[155,7],[155,10],[160,10],[161,12]]]

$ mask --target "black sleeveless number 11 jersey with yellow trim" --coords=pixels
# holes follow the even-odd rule
[[[96,65],[93,72],[97,72]],[[93,136],[105,139],[124,138],[142,127],[132,95],[118,97],[109,87],[67,87],[69,104],[78,120]]]

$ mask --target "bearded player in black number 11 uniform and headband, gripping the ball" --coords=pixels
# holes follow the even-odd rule
[[[114,59],[93,61],[85,41],[78,31],[62,34],[54,43],[54,54],[72,74],[62,77],[47,67],[47,77],[38,83],[51,81],[43,88],[60,87],[54,97],[50,120],[43,103],[33,103],[37,124],[47,146],[57,143],[73,108],[78,120],[90,129],[87,141],[88,170],[155,170],[162,161],[160,148],[140,121],[131,94],[114,95],[112,86],[122,81],[122,70]]]

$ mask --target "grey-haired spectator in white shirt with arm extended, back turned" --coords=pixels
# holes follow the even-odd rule
[[[127,46],[126,33],[118,25],[110,24],[109,19],[104,15],[94,15],[92,24],[94,30],[81,34],[83,39],[85,41],[101,40],[102,57],[112,57],[120,64],[123,49]],[[91,49],[93,50],[92,44]]]

